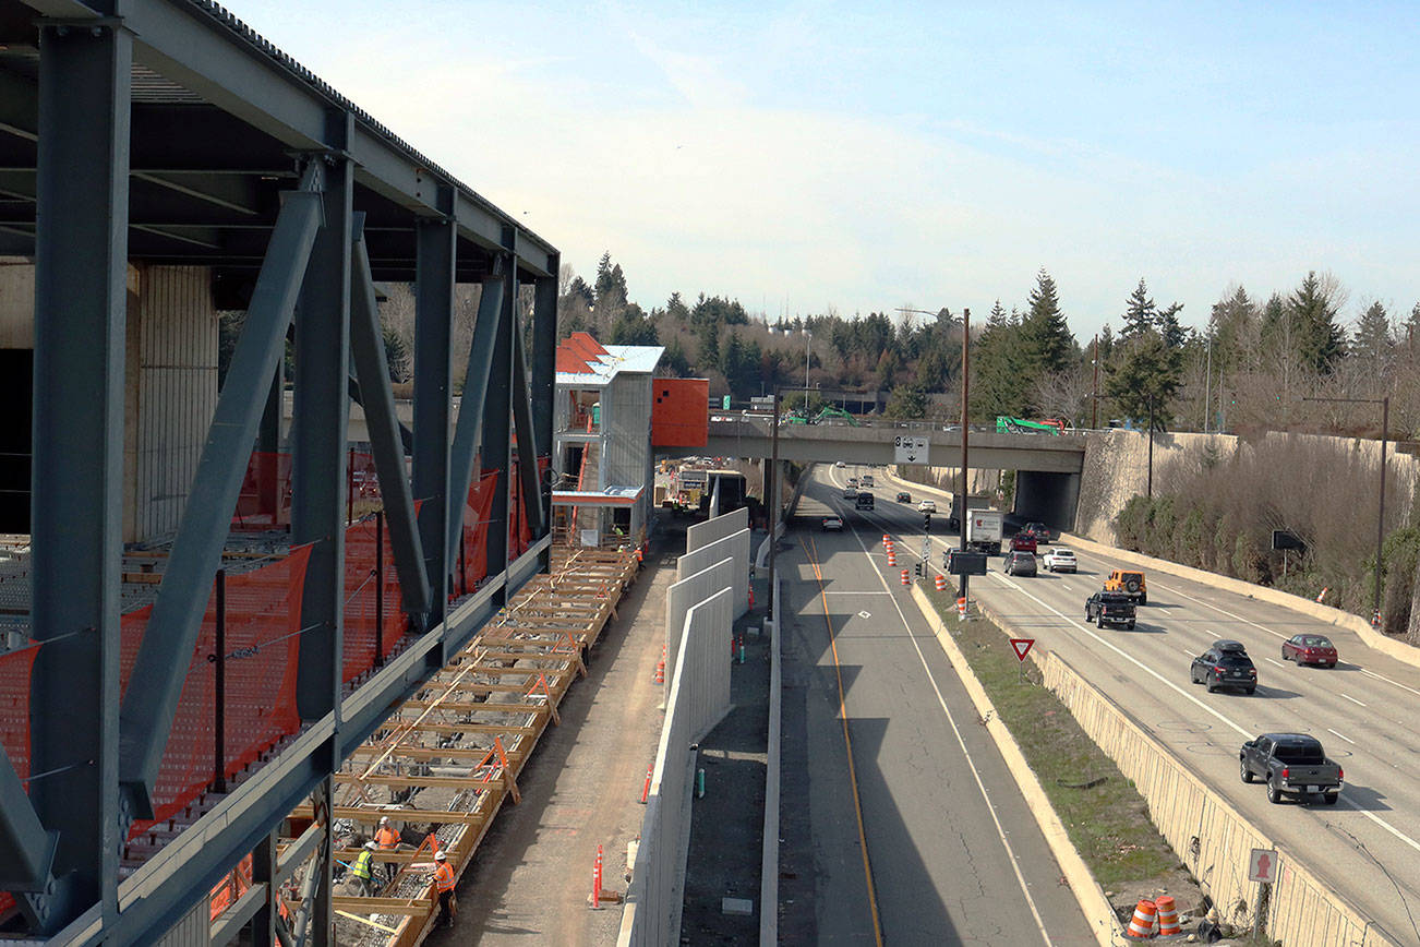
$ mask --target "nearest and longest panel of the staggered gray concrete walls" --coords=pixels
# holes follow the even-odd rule
[[[626,947],[680,943],[696,767],[690,744],[710,733],[730,711],[727,655],[733,611],[730,589],[720,589],[686,615],[679,657],[666,681],[666,723],[616,940]]]

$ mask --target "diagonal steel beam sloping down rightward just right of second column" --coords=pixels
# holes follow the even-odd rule
[[[425,554],[415,527],[415,498],[405,474],[405,449],[399,440],[399,419],[395,416],[395,392],[389,386],[379,305],[361,231],[364,214],[358,217],[351,244],[351,352],[355,355],[361,406],[365,409],[365,426],[375,453],[375,471],[385,500],[389,544],[395,554],[399,586],[405,593],[405,611],[419,616],[422,622],[429,612],[429,576],[425,575]]]

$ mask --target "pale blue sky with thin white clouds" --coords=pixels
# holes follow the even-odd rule
[[[781,315],[1420,301],[1407,3],[229,9],[592,280]]]

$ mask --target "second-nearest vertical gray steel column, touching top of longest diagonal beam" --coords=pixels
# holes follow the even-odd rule
[[[349,116],[332,114],[331,143]],[[349,419],[351,213],[345,158],[327,165],[325,227],[317,234],[295,318],[291,542],[314,542],[301,601],[295,704],[302,720],[339,713],[345,602],[345,454]],[[320,930],[320,927],[317,927]]]

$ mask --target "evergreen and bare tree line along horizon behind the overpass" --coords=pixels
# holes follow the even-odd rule
[[[1227,287],[1203,328],[1183,304],[1159,304],[1140,278],[1098,335],[1069,328],[1047,270],[1024,304],[995,300],[971,317],[971,415],[1058,417],[1086,427],[1152,416],[1160,430],[1311,429],[1379,433],[1367,405],[1308,399],[1392,399],[1393,433],[1420,427],[1420,304],[1397,318],[1309,271],[1295,288],[1252,295]],[[591,283],[562,267],[561,334],[585,329],[613,345],[665,345],[662,371],[709,378],[713,395],[748,399],[775,386],[889,392],[897,417],[960,413],[963,312],[926,318],[832,310],[770,322],[737,300],[673,292],[649,312],[629,301],[626,275],[602,254]],[[1118,327],[1118,328],[1116,328]]]

